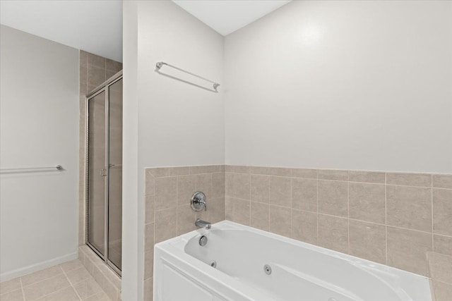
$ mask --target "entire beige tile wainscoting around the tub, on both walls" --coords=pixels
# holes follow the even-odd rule
[[[206,212],[191,211],[189,200],[196,190],[206,193]],[[443,296],[437,300],[450,297],[452,266],[435,264],[436,274],[449,275],[437,280],[430,261],[452,258],[450,174],[259,166],[147,168],[145,300],[152,300],[153,245],[194,230],[196,217],[227,219],[430,276],[436,295]]]

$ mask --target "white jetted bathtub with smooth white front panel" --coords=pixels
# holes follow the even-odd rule
[[[201,247],[201,235],[208,238]],[[210,266],[216,262],[216,267]],[[266,274],[268,264],[271,274]],[[154,301],[431,301],[428,278],[230,221],[155,245]]]

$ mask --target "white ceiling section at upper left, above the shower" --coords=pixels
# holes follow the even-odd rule
[[[122,61],[121,0],[1,0],[0,23]]]

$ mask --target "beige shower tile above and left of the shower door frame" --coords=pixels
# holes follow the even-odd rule
[[[122,70],[122,63],[102,56],[80,51],[80,135],[78,180],[78,245],[85,245],[85,145],[86,145],[86,95],[95,87]]]

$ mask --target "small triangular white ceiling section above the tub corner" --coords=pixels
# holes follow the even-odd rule
[[[221,35],[253,23],[291,0],[172,0]]]

